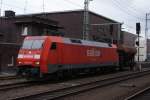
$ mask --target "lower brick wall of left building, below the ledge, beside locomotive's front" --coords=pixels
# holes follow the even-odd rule
[[[16,69],[16,58],[20,45],[0,43],[0,71]]]

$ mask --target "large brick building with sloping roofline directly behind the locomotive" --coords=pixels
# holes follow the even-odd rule
[[[31,15],[30,15],[31,16]],[[41,14],[32,14],[32,16],[44,17],[52,20],[57,20],[59,25],[64,27],[60,30],[64,33],[66,37],[72,38],[83,38],[83,18],[84,11],[64,11],[64,12],[50,12]],[[115,20],[109,19],[102,15],[96,14],[94,12],[89,12],[90,24],[106,24],[106,23],[118,23]],[[121,25],[120,25],[121,27]],[[112,40],[116,43],[118,39],[118,25],[101,25],[101,26],[90,26],[90,40],[97,41],[108,41]]]

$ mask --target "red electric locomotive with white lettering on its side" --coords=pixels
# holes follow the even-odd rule
[[[18,54],[19,73],[42,77],[119,66],[114,44],[58,36],[28,36]]]

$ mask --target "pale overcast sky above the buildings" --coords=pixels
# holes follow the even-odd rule
[[[2,12],[14,10],[16,14],[28,14],[83,9],[84,0],[0,0]],[[2,6],[2,7],[1,7]],[[142,23],[145,33],[145,16],[150,13],[150,0],[93,0],[89,9],[118,22],[123,22],[123,30],[135,33],[135,23]],[[2,13],[4,14],[4,13]],[[150,15],[149,15],[150,19]],[[148,22],[150,28],[150,21]],[[150,32],[150,31],[149,31]]]

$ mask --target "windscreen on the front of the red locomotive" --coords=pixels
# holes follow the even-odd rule
[[[22,49],[40,49],[44,40],[25,40]]]

